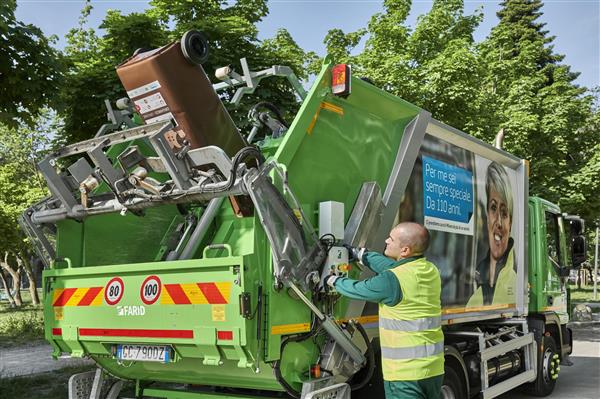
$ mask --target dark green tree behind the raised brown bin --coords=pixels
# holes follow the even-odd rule
[[[312,56],[305,53],[285,30],[272,39],[261,42],[256,24],[267,15],[266,0],[190,2],[185,0],[155,0],[144,13],[121,15],[109,11],[101,24],[106,31],[98,37],[86,28],[91,10],[88,3],[82,10],[79,27],[68,36],[66,58],[69,72],[61,89],[60,114],[65,126],[61,136],[67,142],[87,139],[105,123],[104,99],[113,101],[125,97],[115,66],[138,48],[156,48],[179,40],[190,29],[201,30],[209,40],[210,56],[203,65],[209,77],[216,68],[239,64],[246,57],[254,70],[275,64],[290,66],[299,78],[306,77],[304,65]],[[238,68],[239,70],[239,68]],[[224,100],[233,96],[226,91]],[[261,83],[256,95],[275,103],[288,117],[299,104],[293,91],[283,79]],[[249,105],[233,108],[226,103],[238,127],[247,126]]]

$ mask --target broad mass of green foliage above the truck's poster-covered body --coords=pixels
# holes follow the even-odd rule
[[[410,0],[384,2],[366,29],[330,30],[328,52],[355,73],[430,111],[434,118],[531,161],[530,193],[584,217],[600,211],[600,118],[577,74],[561,64],[553,37],[538,21],[540,0],[506,0],[500,22],[473,41],[481,12],[465,15],[462,0],[434,1],[406,25]],[[368,34],[364,50],[351,56]]]

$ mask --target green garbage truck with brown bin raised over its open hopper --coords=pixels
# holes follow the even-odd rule
[[[441,275],[444,397],[552,392],[584,223],[530,196],[527,160],[329,57],[308,91],[245,59],[212,83],[207,57],[197,31],[137,51],[109,123],[39,163],[50,195],[20,223],[47,266],[45,338],[98,367],[71,397],[383,397],[377,304],[323,280],[371,276],[344,244],[381,252],[403,221]],[[289,84],[293,120],[251,103],[264,79]],[[248,128],[226,102],[251,105]]]

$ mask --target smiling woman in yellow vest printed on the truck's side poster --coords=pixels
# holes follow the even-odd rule
[[[510,236],[512,190],[506,170],[497,162],[492,162],[487,168],[485,193],[489,251],[477,265],[476,289],[467,302],[467,308],[515,303],[517,273],[514,241]]]

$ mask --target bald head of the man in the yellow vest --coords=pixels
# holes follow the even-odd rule
[[[385,255],[394,259],[422,255],[429,246],[429,231],[418,223],[400,223],[385,240]]]

